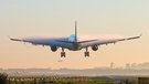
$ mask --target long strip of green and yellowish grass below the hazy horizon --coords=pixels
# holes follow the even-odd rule
[[[55,82],[46,84],[115,84],[113,80],[96,78],[10,78],[10,84],[22,84],[22,82],[24,84],[45,84],[40,82]]]

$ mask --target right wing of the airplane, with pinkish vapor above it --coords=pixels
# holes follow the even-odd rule
[[[117,43],[120,41],[126,41],[126,40],[134,40],[134,39],[139,39],[141,36],[141,34],[139,36],[131,36],[131,38],[125,38],[125,36],[111,36],[111,35],[102,35],[102,36],[89,36],[88,39],[93,40],[91,42],[83,42],[81,41],[82,48],[87,48],[87,46],[93,46],[93,45],[102,45],[102,44],[109,44],[109,43]],[[83,38],[82,38],[83,39]],[[95,40],[95,41],[94,41]]]

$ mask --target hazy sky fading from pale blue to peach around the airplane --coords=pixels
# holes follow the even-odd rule
[[[102,45],[98,51],[33,46],[10,41],[29,35],[70,36],[77,21],[79,35],[118,34],[138,40]],[[125,66],[126,63],[149,62],[149,0],[0,0],[0,67],[1,69],[93,69]],[[58,62],[63,60],[63,62]]]

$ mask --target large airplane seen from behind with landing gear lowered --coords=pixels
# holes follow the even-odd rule
[[[72,34],[71,36],[66,38],[26,38],[26,39],[11,39],[12,41],[20,41],[20,42],[28,42],[33,45],[49,45],[51,48],[51,51],[55,52],[58,48],[62,48],[61,52],[61,57],[65,57],[65,52],[64,49],[68,49],[71,51],[79,51],[82,49],[86,49],[85,57],[89,57],[89,52],[87,51],[89,46],[92,46],[93,51],[97,51],[98,46],[102,44],[109,44],[109,43],[117,43],[119,41],[126,41],[126,40],[134,40],[134,39],[139,39],[139,36],[131,36],[131,38],[117,38],[117,36],[108,36],[108,38],[98,38],[94,36],[89,39],[91,36],[87,38],[87,40],[82,39],[79,40],[77,36],[77,24],[75,21],[75,34]]]

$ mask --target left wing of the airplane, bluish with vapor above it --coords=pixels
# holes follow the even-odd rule
[[[49,45],[49,46],[55,45],[55,46],[61,46],[61,48],[65,48],[65,49],[68,49],[68,46],[71,45],[71,43],[64,43],[64,42],[56,41],[56,40],[67,41],[68,38],[38,38],[38,36],[34,36],[34,38],[24,38],[24,39],[10,38],[10,40],[19,41],[19,42],[28,42],[33,45]]]

